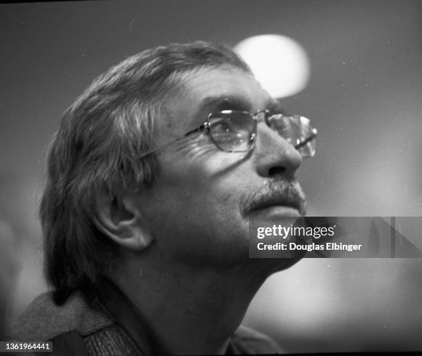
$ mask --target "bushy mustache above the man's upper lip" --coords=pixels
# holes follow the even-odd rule
[[[241,199],[240,208],[243,215],[247,215],[259,208],[282,204],[293,206],[301,215],[305,215],[305,201],[305,193],[297,179],[267,180],[264,186],[250,190]]]

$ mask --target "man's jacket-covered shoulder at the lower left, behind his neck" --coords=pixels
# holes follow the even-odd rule
[[[114,323],[100,304],[89,303],[80,292],[75,292],[62,305],[52,299],[52,293],[39,295],[14,320],[12,337],[19,340],[50,340],[77,331],[87,336]]]

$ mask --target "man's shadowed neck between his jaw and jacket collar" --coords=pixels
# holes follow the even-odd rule
[[[222,354],[268,273],[180,265],[139,268],[132,260],[112,281],[172,354]]]

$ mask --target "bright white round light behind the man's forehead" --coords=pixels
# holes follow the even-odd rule
[[[308,55],[289,37],[279,34],[249,37],[238,43],[234,51],[248,63],[261,86],[272,97],[297,94],[308,83]]]

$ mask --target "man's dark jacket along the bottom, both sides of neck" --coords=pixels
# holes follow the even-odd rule
[[[148,325],[134,316],[136,313],[130,309],[130,301],[119,292],[117,296],[120,305],[113,311],[121,315],[112,313],[99,297],[86,299],[81,292],[76,292],[63,305],[57,306],[52,293],[44,293],[14,322],[12,336],[17,341],[52,341],[53,353],[48,355],[167,354]],[[132,318],[135,319],[130,322],[137,324],[137,342],[130,336],[130,328],[125,327],[127,319]],[[241,326],[230,338],[226,354],[262,353],[281,353],[281,349],[269,337]]]

